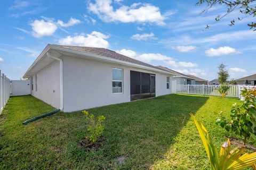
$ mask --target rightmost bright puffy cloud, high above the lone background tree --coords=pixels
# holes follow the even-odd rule
[[[228,46],[224,46],[224,47],[219,47],[217,49],[215,48],[210,48],[209,50],[205,51],[205,54],[207,56],[222,56],[222,55],[229,55],[229,54],[235,54],[237,53],[237,50],[235,48],[231,48]]]

